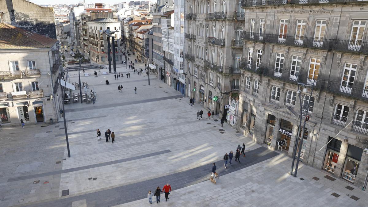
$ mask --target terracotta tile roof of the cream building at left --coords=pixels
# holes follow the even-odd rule
[[[56,39],[0,23],[0,49],[51,48],[55,43]]]

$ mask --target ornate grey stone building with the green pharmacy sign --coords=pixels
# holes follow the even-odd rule
[[[225,121],[236,123],[242,45],[234,32],[244,21],[233,17],[231,1],[188,1],[185,6],[185,67],[187,95]]]

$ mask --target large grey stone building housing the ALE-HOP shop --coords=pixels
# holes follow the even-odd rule
[[[234,31],[232,47],[241,50],[236,129],[272,150],[285,140],[283,152],[290,157],[296,139],[302,139],[297,151],[304,164],[366,185],[368,5],[332,0],[237,5],[234,19],[241,25],[227,30]],[[309,117],[302,133],[300,111],[303,121]]]

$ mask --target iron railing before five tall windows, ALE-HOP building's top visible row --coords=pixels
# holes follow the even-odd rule
[[[265,34],[256,32],[241,32],[241,39],[319,49],[333,49],[335,43],[335,39]]]

